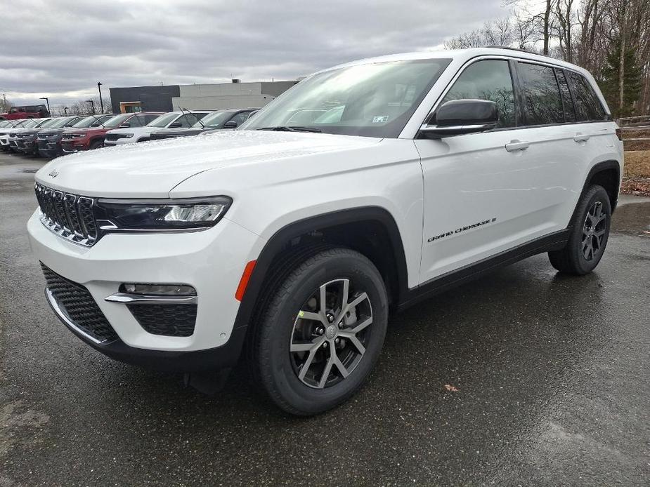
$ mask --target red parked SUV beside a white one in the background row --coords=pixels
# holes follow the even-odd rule
[[[61,149],[66,154],[104,147],[106,133],[113,128],[138,128],[160,116],[162,112],[123,113],[102,121],[99,126],[71,128],[63,133]]]

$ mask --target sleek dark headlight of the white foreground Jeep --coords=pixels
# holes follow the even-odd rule
[[[228,196],[192,199],[98,199],[96,219],[105,232],[207,229],[216,225],[233,202]]]

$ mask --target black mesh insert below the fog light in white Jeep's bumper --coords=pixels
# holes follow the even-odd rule
[[[154,335],[188,337],[194,333],[197,305],[126,305],[145,331]]]

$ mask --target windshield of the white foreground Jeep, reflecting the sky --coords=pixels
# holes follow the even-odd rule
[[[449,59],[375,62],[304,79],[240,130],[277,127],[396,138]]]

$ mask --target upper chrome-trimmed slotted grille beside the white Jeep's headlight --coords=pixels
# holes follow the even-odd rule
[[[92,198],[56,191],[38,182],[34,189],[43,225],[77,244],[88,247],[95,244],[97,225],[93,215],[95,201]]]

